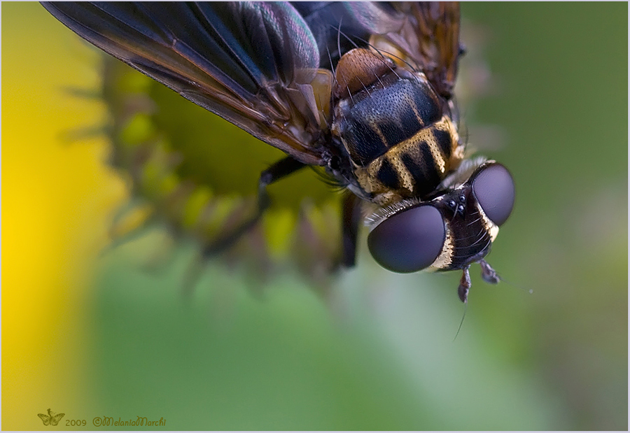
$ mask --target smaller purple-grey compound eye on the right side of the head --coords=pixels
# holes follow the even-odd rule
[[[492,164],[472,180],[472,193],[484,213],[496,225],[502,225],[514,207],[514,179],[501,164]]]

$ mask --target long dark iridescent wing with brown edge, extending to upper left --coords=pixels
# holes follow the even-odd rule
[[[323,164],[316,40],[289,3],[43,3],[90,43],[306,164]],[[323,77],[323,78],[322,78]]]

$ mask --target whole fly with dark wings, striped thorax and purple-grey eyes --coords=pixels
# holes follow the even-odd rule
[[[342,263],[367,244],[395,272],[484,261],[514,204],[504,166],[464,159],[453,101],[457,3],[43,3],[82,38],[288,155],[267,185],[321,166],[344,189]]]

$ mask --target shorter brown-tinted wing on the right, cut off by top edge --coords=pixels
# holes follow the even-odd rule
[[[351,3],[357,20],[372,34],[383,36],[400,50],[402,59],[415,64],[427,76],[437,93],[453,96],[458,59],[459,3],[402,2]]]

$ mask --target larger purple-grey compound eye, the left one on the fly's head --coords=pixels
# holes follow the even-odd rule
[[[416,272],[435,262],[446,229],[433,206],[418,206],[391,215],[367,236],[372,257],[393,272]]]

